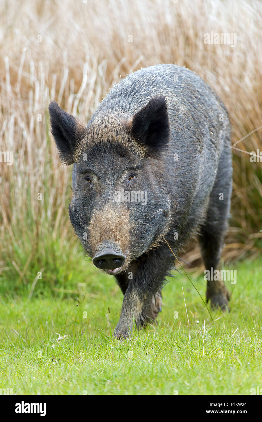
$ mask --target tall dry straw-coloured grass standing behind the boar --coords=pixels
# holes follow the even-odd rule
[[[41,268],[57,245],[69,245],[70,254],[76,244],[67,216],[70,168],[59,164],[50,136],[50,100],[88,122],[120,77],[176,63],[222,98],[233,143],[262,126],[260,2],[6,0],[0,8],[0,151],[13,151],[13,165],[0,163],[0,263],[8,277],[26,282],[32,262]],[[211,31],[236,33],[237,45],[205,44]],[[236,148],[228,259],[256,256],[262,246],[262,164],[245,152],[262,151],[262,129]],[[188,259],[198,257],[195,249]]]

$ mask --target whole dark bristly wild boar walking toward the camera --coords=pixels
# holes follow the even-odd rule
[[[115,84],[86,126],[49,106],[61,162],[73,164],[69,215],[94,265],[115,276],[123,307],[114,335],[161,310],[174,255],[192,238],[217,268],[232,189],[230,122],[215,92],[176,65],[142,68]],[[164,240],[166,239],[166,241]],[[223,281],[207,282],[227,309]]]

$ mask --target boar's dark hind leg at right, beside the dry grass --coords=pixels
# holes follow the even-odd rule
[[[205,267],[213,271],[218,268],[224,237],[227,230],[227,218],[230,210],[232,190],[232,165],[230,148],[225,148],[219,161],[217,179],[212,189],[206,222],[201,228],[199,243]],[[221,195],[223,194],[223,195]],[[224,281],[208,281],[206,300],[210,299],[212,308],[228,309],[230,295]]]

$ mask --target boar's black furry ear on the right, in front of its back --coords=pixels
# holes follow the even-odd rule
[[[152,98],[133,117],[132,135],[147,146],[148,155],[157,156],[169,142],[170,127],[166,97]]]

